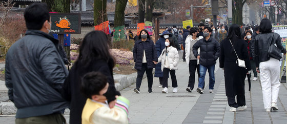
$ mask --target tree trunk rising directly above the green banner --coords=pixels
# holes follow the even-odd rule
[[[114,27],[125,25],[125,10],[128,0],[117,0],[115,8]]]

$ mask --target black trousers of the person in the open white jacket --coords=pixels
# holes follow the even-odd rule
[[[190,87],[191,90],[193,90],[193,88],[194,88],[195,70],[197,70],[197,75],[198,75],[198,77],[200,77],[199,65],[197,65],[197,60],[190,60],[189,61],[189,84],[188,84],[188,87]],[[204,88],[204,82],[203,82],[203,88]]]

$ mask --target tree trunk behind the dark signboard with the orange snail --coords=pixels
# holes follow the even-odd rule
[[[70,0],[42,0],[42,2],[47,3],[50,12],[70,13]],[[64,37],[60,41],[64,41]],[[63,42],[60,43],[64,46]],[[64,50],[67,54],[67,59],[71,61],[70,47],[64,47]]]

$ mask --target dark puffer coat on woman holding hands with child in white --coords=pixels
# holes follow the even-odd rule
[[[142,42],[141,39],[139,39],[137,42],[135,42],[133,50],[135,69],[137,70],[141,69],[144,50],[146,52],[148,69],[155,68],[153,61],[157,61],[157,55],[153,41],[151,39],[147,39],[147,41]]]

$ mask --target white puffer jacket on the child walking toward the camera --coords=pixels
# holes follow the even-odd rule
[[[170,70],[177,70],[178,69],[178,60],[179,60],[179,55],[178,51],[174,47],[169,47],[167,49],[168,51],[168,60],[170,64]],[[160,56],[158,57],[158,62],[161,62],[161,71],[163,71],[163,68],[165,67],[165,61],[166,61],[166,49],[163,49]]]

